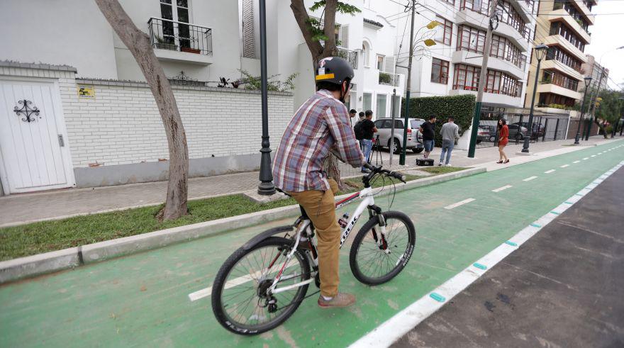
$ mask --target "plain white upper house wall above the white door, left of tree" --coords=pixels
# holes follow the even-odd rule
[[[0,60],[65,64],[117,78],[113,30],[94,1],[0,1]]]

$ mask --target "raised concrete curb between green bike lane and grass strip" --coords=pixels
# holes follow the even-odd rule
[[[465,176],[472,176],[486,172],[484,167],[466,169],[458,172],[440,174],[423,179],[408,181],[407,184],[397,186],[396,191],[415,189],[420,186],[438,184],[444,181],[459,179]],[[379,193],[383,188],[373,190],[374,194]],[[381,192],[381,196],[389,194],[391,190]],[[335,197],[336,201],[352,195],[348,193]],[[273,220],[288,218],[299,212],[299,206],[286,206],[281,208],[258,211],[245,215],[232,216],[218,220],[196,223],[193,225],[179,226],[154,232],[147,232],[141,235],[107,240],[94,244],[83,245],[82,247],[71,247],[46,252],[29,257],[21,257],[0,262],[0,284],[9,281],[16,281],[31,276],[47,274],[54,271],[71,269],[83,264],[92,264],[115,257],[121,257],[137,252],[144,252],[150,249],[157,249],[179,242],[188,242],[201,237],[216,235],[221,232],[228,232],[238,228],[249,227],[260,223],[267,223]]]

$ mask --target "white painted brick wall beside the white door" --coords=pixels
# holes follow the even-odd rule
[[[80,99],[77,84],[91,84]],[[157,162],[169,157],[167,138],[147,84],[79,79],[61,86],[74,167]],[[69,88],[69,90],[67,90]],[[174,86],[189,158],[252,155],[260,150],[260,93]],[[275,148],[293,114],[293,96],[269,94],[269,136]]]

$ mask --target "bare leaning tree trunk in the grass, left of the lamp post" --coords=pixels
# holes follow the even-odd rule
[[[179,218],[186,215],[189,150],[186,146],[184,125],[182,125],[182,118],[180,118],[169,79],[165,76],[152,50],[150,38],[135,26],[119,2],[117,0],[95,0],[95,2],[106,21],[111,24],[115,33],[135,57],[156,100],[169,145],[167,201],[165,208],[159,214],[165,220]]]

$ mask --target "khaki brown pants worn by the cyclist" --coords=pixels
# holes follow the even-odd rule
[[[338,184],[328,179],[331,191],[289,192],[303,206],[316,230],[318,240],[318,271],[321,275],[321,295],[338,294],[338,257],[340,256],[340,225],[336,219],[334,192]]]

